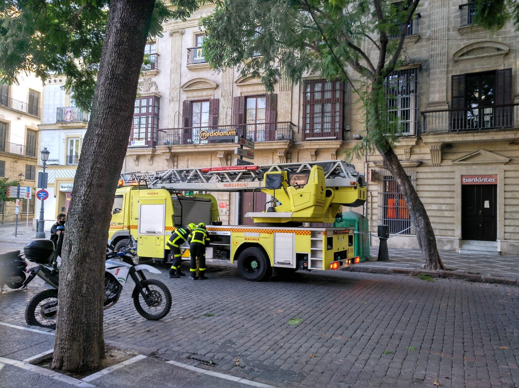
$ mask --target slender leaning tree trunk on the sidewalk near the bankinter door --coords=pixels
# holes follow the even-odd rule
[[[432,229],[425,206],[420,197],[418,197],[418,193],[404,171],[402,164],[400,164],[397,155],[395,155],[391,147],[388,147],[387,150],[379,148],[378,151],[382,156],[384,168],[393,175],[402,197],[404,197],[407,210],[415,227],[418,245],[424,255],[425,268],[431,270],[445,269],[438,253],[434,230]]]

